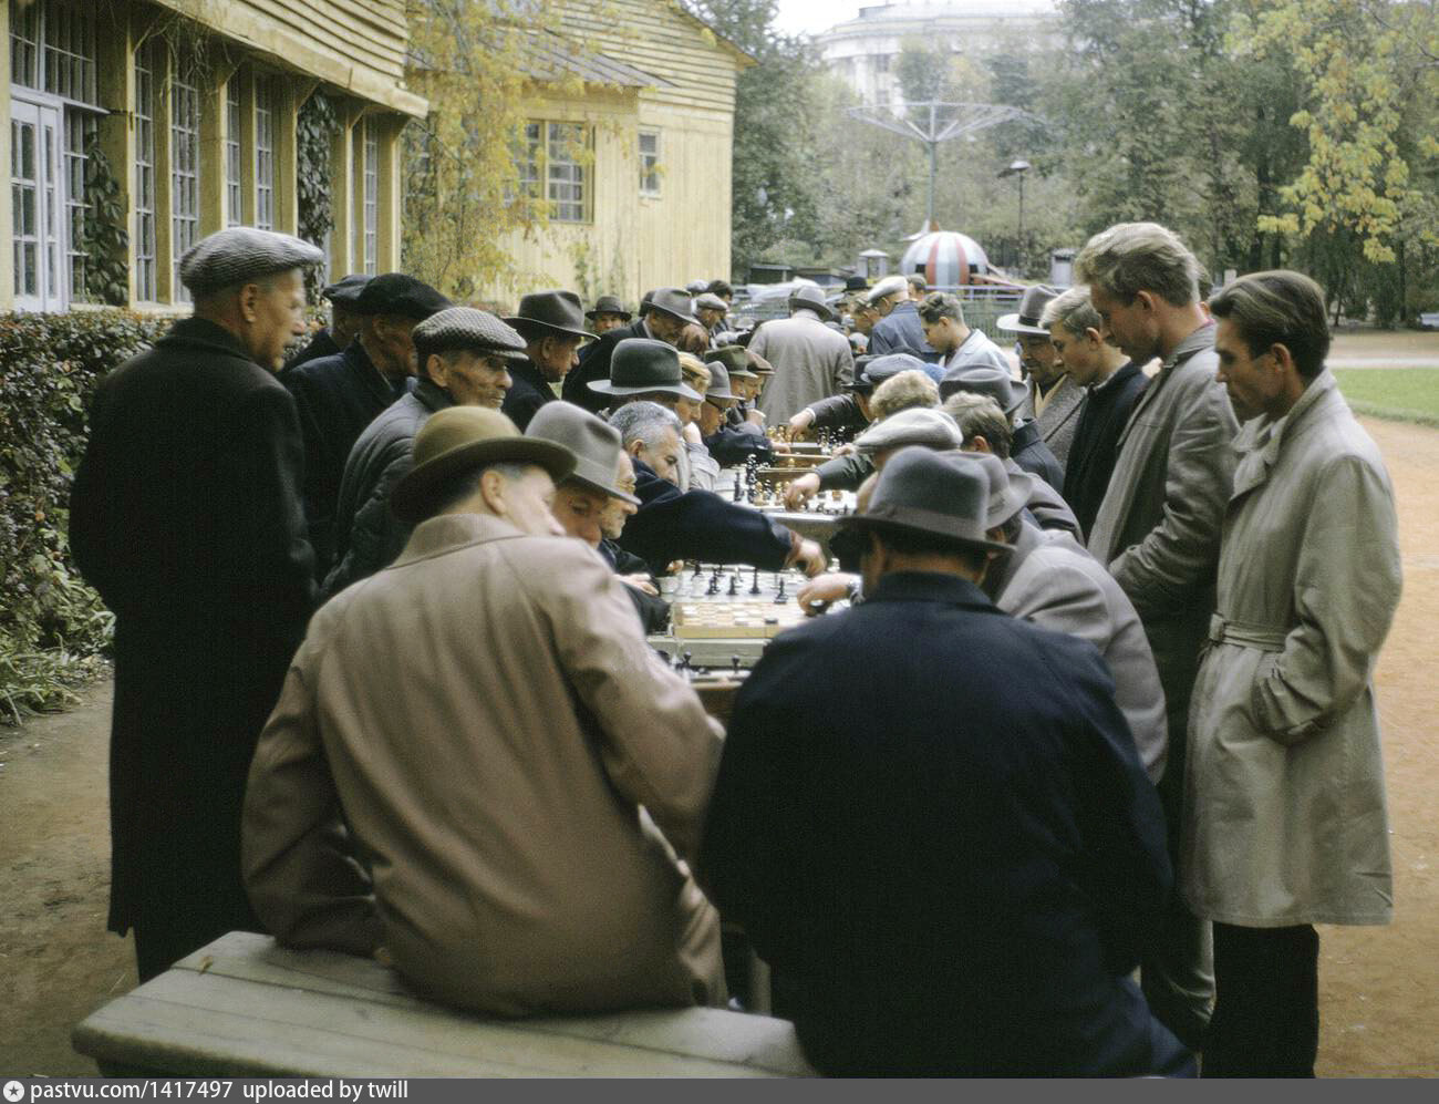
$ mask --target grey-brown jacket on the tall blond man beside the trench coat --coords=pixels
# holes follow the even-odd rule
[[[1215,381],[1213,344],[1213,322],[1180,341],[1134,404],[1089,534],[1089,553],[1108,564],[1144,622],[1176,757],[1215,609],[1219,527],[1239,429],[1229,394]]]

